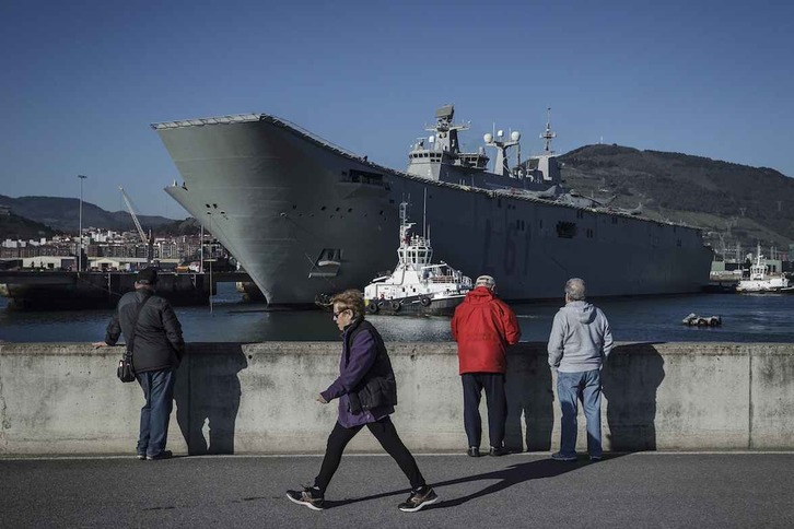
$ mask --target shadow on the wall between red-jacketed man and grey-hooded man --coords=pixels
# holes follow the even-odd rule
[[[551,368],[541,349],[542,344],[518,343],[509,351],[504,446],[510,451],[551,448],[554,393]]]

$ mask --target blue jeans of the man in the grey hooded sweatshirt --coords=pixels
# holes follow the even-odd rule
[[[602,373],[599,369],[557,374],[557,397],[562,408],[560,452],[576,455],[576,413],[579,400],[587,420],[587,451],[602,456]]]

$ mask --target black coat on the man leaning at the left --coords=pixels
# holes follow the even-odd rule
[[[107,325],[105,343],[115,345],[122,332],[125,341],[130,342],[137,305],[144,301],[138,316],[132,349],[132,366],[136,373],[178,367],[185,353],[179,320],[165,298],[145,289],[121,296],[116,313]]]

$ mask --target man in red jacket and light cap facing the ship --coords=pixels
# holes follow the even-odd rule
[[[507,416],[507,397],[504,392],[504,373],[507,371],[507,345],[517,343],[521,329],[515,313],[495,295],[497,283],[490,275],[480,275],[475,290],[455,309],[452,337],[457,342],[457,357],[464,388],[464,425],[469,440],[468,455],[479,457],[482,423],[480,396],[486,389],[488,403],[488,434],[491,456],[506,454],[504,421]]]

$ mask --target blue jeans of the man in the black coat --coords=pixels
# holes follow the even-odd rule
[[[138,454],[157,456],[165,450],[165,443],[168,439],[176,371],[168,368],[137,373],[136,378],[147,399],[147,403],[141,408]]]

